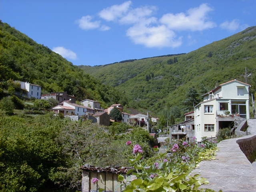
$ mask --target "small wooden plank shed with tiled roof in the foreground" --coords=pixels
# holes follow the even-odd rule
[[[97,192],[99,188],[105,192],[121,192],[118,175],[122,174],[126,178],[126,173],[131,168],[126,167],[95,167],[88,164],[81,167],[82,169],[82,192]],[[92,183],[93,178],[98,178],[96,184]]]

